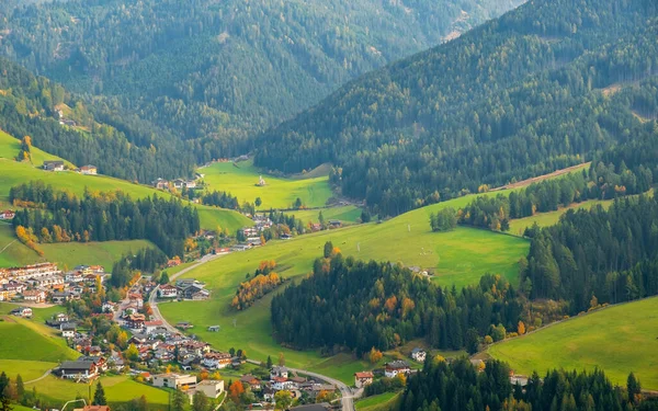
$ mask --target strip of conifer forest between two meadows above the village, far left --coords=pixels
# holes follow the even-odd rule
[[[179,199],[134,201],[122,192],[86,191],[82,198],[30,182],[10,191],[14,204],[31,206],[12,220],[21,241],[68,242],[147,239],[167,255],[184,255],[184,240],[198,231],[198,213]]]

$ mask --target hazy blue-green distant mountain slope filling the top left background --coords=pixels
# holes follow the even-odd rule
[[[200,162],[336,87],[521,0],[82,1],[0,5],[0,53],[195,140]]]

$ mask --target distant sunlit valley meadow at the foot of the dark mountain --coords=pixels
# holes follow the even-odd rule
[[[298,197],[307,207],[322,207],[331,197],[331,187],[327,174],[310,179],[285,179],[264,174],[253,167],[251,161],[216,162],[198,170],[209,191],[227,191],[237,196],[240,203],[253,203],[260,197],[259,209],[291,208]],[[259,176],[265,180],[264,186],[258,186]],[[313,175],[316,175],[314,173]]]

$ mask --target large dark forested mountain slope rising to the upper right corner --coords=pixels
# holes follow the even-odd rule
[[[654,113],[649,0],[535,0],[352,81],[258,141],[257,165],[332,161],[343,194],[384,215],[581,162]],[[642,102],[642,103],[640,103]],[[294,155],[292,155],[294,153]]]

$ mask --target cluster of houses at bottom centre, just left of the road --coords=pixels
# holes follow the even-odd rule
[[[266,402],[274,400],[274,395],[281,390],[291,391],[293,398],[298,398],[302,392],[307,392],[310,398],[316,398],[320,391],[334,391],[336,386],[302,377],[291,373],[285,366],[274,366],[270,370],[269,379],[262,380],[251,374],[242,375],[240,383],[250,387],[251,391]]]

